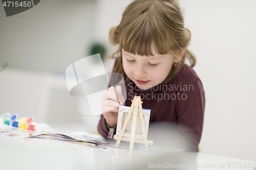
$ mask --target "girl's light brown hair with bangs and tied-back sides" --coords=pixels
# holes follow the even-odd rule
[[[196,58],[187,49],[190,37],[190,31],[184,28],[181,9],[176,1],[135,0],[124,10],[120,24],[110,30],[110,43],[119,45],[119,48],[108,56],[119,59],[113,71],[125,75],[122,48],[134,55],[153,56],[154,45],[158,54],[172,54],[180,59],[177,67],[172,67],[161,83],[165,84],[177,75],[185,60],[190,62],[191,67],[195,66]],[[184,55],[180,56],[184,49]]]

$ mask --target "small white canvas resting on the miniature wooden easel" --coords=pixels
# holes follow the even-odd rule
[[[121,129],[123,127],[124,121],[126,119],[126,116],[129,112],[131,107],[128,106],[119,106],[119,112],[118,112],[118,120],[117,120],[117,129],[116,129],[116,135],[119,136],[121,133]],[[142,109],[143,111],[143,117],[144,117],[144,123],[145,123],[145,130],[146,130],[146,136],[148,132],[148,125],[150,124],[150,109]],[[129,122],[125,128],[125,131],[123,133],[123,137],[131,138],[131,131],[132,131],[132,124],[133,124],[133,113],[129,119]],[[139,116],[139,109],[137,114],[137,121],[136,121],[136,131],[135,131],[135,139],[143,139],[142,135],[142,129],[141,129],[141,122],[140,122],[140,116]]]

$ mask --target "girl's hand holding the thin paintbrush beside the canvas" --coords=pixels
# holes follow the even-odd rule
[[[119,103],[120,101],[124,105],[124,97],[122,95],[121,86],[116,86],[117,94],[115,93],[114,87],[110,87],[106,91],[101,100],[101,110],[102,114],[106,120],[106,124],[109,127],[115,127],[117,125]],[[118,101],[117,101],[118,99]]]

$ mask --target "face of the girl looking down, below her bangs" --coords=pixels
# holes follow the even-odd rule
[[[122,49],[124,72],[140,89],[150,89],[163,82],[173,62],[177,62],[170,54],[157,54],[154,47],[152,52],[153,56],[146,57],[127,53]]]

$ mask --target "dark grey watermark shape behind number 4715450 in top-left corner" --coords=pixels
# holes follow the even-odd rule
[[[31,1],[5,1],[2,0],[3,7],[5,9],[6,16],[12,16],[18,13],[22,13],[24,11],[27,11],[34,6],[36,6],[40,0],[31,0]]]

